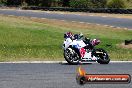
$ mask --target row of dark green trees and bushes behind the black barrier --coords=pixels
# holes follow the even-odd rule
[[[129,0],[127,0],[129,1]],[[6,6],[125,8],[124,0],[0,0]]]

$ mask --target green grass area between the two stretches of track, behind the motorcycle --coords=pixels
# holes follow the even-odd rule
[[[66,31],[101,39],[98,47],[106,49],[112,60],[132,60],[132,49],[116,46],[125,39],[132,39],[132,31],[90,25],[80,29],[70,26],[71,23],[68,25],[0,16],[0,61],[64,60],[62,43]]]

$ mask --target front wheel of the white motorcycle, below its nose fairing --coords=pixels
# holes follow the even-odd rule
[[[71,48],[64,50],[64,58],[71,65],[79,64],[79,55]]]

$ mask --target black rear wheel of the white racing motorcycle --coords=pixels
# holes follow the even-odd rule
[[[108,64],[110,62],[108,53],[104,49],[96,49],[96,56],[98,57],[97,62],[100,64]]]

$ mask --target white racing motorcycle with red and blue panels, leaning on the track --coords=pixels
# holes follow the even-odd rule
[[[94,41],[96,39],[93,39]],[[87,40],[86,40],[87,41]],[[89,44],[82,39],[71,39],[66,38],[63,43],[64,49],[64,58],[65,60],[72,65],[76,65],[83,62],[98,62],[100,64],[108,64],[110,58],[108,53],[102,49],[96,49],[93,45],[92,48],[89,48]],[[92,43],[92,41],[90,41]]]

